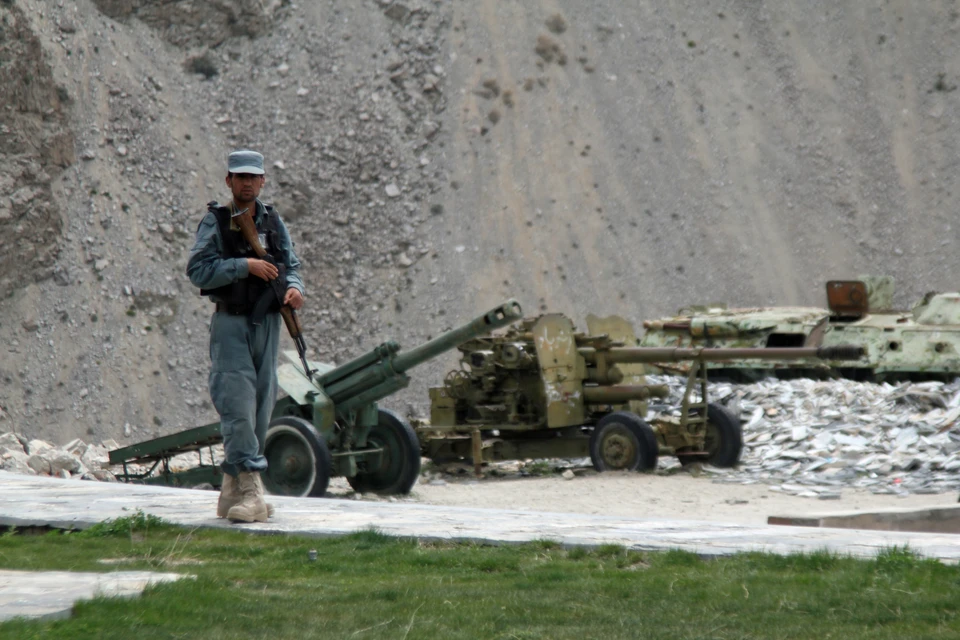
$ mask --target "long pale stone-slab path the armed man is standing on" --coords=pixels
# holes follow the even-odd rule
[[[269,523],[238,525],[215,516],[217,494],[122,483],[23,476],[0,471],[0,525],[86,528],[142,510],[187,527],[256,533],[342,535],[375,528],[427,540],[565,545],[618,544],[636,550],[682,549],[703,556],[745,551],[791,554],[829,550],[871,557],[893,546],[945,562],[960,561],[960,535],[632,519],[508,509],[450,508],[409,502],[366,502],[271,496]]]

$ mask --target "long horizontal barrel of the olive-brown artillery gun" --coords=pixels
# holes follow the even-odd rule
[[[598,354],[603,354],[608,363],[617,362],[682,362],[701,360],[719,362],[723,360],[798,360],[816,358],[819,360],[858,360],[863,357],[863,347],[837,345],[835,347],[778,347],[769,349],[744,348],[682,348],[682,347],[613,347],[598,352],[596,349],[580,349],[587,362],[595,363]]]

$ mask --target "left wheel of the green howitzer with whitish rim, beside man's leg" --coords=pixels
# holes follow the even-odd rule
[[[263,455],[263,485],[279,496],[319,498],[330,484],[333,461],[327,441],[303,418],[283,416],[270,422]]]

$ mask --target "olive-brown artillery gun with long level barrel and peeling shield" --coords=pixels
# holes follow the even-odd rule
[[[577,333],[565,316],[547,314],[461,344],[460,368],[430,390],[430,426],[418,432],[424,455],[472,459],[477,473],[483,461],[588,455],[598,471],[653,469],[660,455],[729,467],[743,447],[740,420],[708,401],[707,362],[862,355],[846,346],[644,348],[633,346],[633,328],[621,318],[587,322],[597,334]],[[645,363],[680,361],[690,364],[679,415],[648,424],[646,401],[665,398],[668,389],[646,383]]]

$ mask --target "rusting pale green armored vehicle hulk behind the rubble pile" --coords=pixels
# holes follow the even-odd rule
[[[892,308],[889,277],[832,280],[827,308],[688,307],[643,323],[647,347],[769,349],[857,345],[856,362],[742,358],[710,362],[713,377],[735,380],[840,375],[857,380],[937,379],[960,375],[960,293],[928,293],[910,310]],[[685,373],[677,363],[664,371]]]

